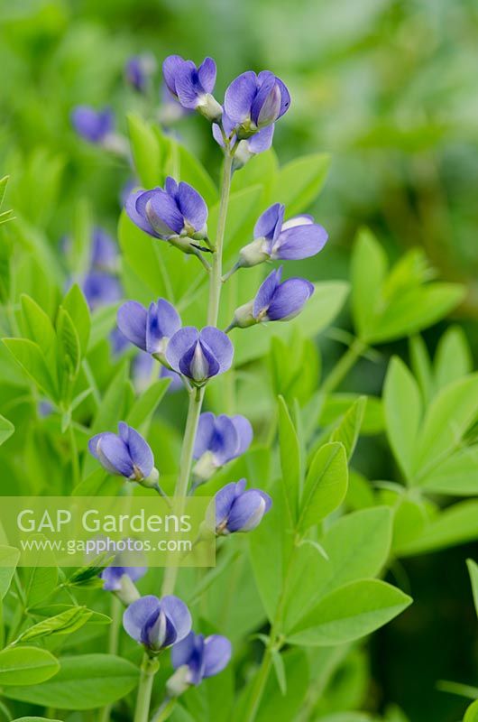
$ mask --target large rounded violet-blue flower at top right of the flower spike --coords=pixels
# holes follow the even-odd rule
[[[290,107],[290,94],[282,80],[269,70],[249,70],[225,91],[225,114],[241,140],[272,125]]]

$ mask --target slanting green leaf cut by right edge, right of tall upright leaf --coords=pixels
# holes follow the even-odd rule
[[[478,374],[458,379],[437,394],[427,409],[413,454],[413,471],[423,476],[456,449],[478,416]]]

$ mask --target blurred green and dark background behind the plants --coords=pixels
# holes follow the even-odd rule
[[[332,167],[312,209],[330,243],[298,264],[311,279],[345,278],[357,227],[372,227],[391,257],[425,248],[437,273],[465,282],[457,313],[478,348],[478,5],[473,0],[0,0],[0,177],[7,207],[51,244],[69,234],[72,208],[87,199],[97,223],[115,234],[128,169],[73,133],[78,103],[151,118],[160,102],[124,84],[124,61],[171,52],[218,67],[216,97],[244,69],[271,69],[290,88],[290,113],[274,146],[285,162],[326,151]],[[197,118],[177,132],[216,175],[219,153]],[[41,192],[39,189],[41,187]],[[45,202],[48,199],[48,203]],[[53,210],[51,210],[53,208]],[[341,325],[347,319],[341,319]],[[433,350],[442,329],[426,334]],[[341,347],[324,343],[333,363]],[[350,387],[379,393],[386,361],[363,361]],[[398,347],[406,353],[405,346]],[[389,478],[390,456],[375,445],[364,465]],[[467,550],[478,557],[476,548]],[[476,625],[464,550],[400,569],[416,604],[372,643],[365,704],[393,701],[411,722],[456,722],[463,700],[438,679],[476,684]]]

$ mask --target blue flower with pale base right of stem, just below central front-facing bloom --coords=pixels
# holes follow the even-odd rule
[[[253,440],[253,427],[245,416],[202,413],[194,444],[194,476],[206,481],[217,468],[244,454]]]

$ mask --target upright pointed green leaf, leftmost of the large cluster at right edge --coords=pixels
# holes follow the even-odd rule
[[[391,449],[410,480],[422,405],[417,382],[397,356],[391,359],[385,378],[383,408]]]

